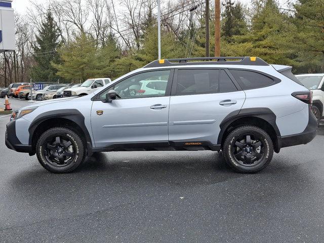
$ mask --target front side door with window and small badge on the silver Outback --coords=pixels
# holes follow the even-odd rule
[[[170,72],[154,70],[137,73],[102,92],[101,100],[110,89],[115,90],[120,98],[111,103],[93,102],[91,126],[95,146],[168,143]],[[147,80],[158,83],[155,92],[153,84],[146,91]]]

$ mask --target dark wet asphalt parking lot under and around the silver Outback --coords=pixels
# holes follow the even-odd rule
[[[164,151],[101,153],[61,175],[7,149],[8,120],[0,115],[1,242],[324,238],[324,126],[258,174],[234,173],[217,152]]]

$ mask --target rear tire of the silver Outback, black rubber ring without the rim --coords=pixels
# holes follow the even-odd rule
[[[255,165],[255,166],[242,166],[240,164],[237,163],[237,161],[235,160],[235,158],[232,155],[232,148],[235,144],[235,141],[238,137],[245,135],[245,134],[250,134],[253,136],[257,136],[259,138],[259,140],[262,140],[262,143],[265,144],[265,156],[262,159],[262,161]],[[267,166],[267,164],[270,163],[272,156],[273,156],[273,143],[271,138],[269,137],[269,135],[264,132],[263,130],[259,130],[256,129],[254,127],[249,127],[247,129],[236,129],[233,132],[231,132],[224,143],[224,155],[225,155],[225,159],[227,161],[227,163],[233,167],[235,170],[240,171],[240,172],[257,172],[259,170],[262,170],[264,167]]]

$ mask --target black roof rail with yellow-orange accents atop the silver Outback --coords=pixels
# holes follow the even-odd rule
[[[216,61],[212,61],[216,60]],[[230,60],[230,61],[227,61]],[[195,61],[195,62],[193,62]],[[197,62],[198,61],[198,62]],[[200,61],[200,62],[199,62]],[[226,63],[225,63],[226,62]],[[150,62],[145,65],[147,67],[166,67],[180,65],[257,65],[269,66],[268,63],[259,57],[191,57],[191,58],[176,58],[176,59],[161,59]]]

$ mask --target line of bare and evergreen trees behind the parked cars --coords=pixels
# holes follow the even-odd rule
[[[212,1],[213,2],[213,1]],[[15,16],[16,50],[3,53],[0,87],[14,82],[116,78],[157,59],[155,0],[51,0]],[[258,56],[324,72],[324,0],[224,0],[221,55]],[[210,52],[214,52],[214,6]],[[204,57],[205,1],[163,2],[161,57]]]

